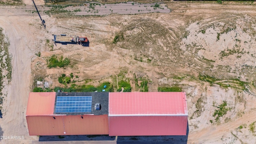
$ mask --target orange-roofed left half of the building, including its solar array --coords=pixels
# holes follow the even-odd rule
[[[30,92],[26,120],[30,136],[108,134],[108,92]]]

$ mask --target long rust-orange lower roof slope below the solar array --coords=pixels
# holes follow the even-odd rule
[[[108,134],[108,115],[26,116],[30,136]],[[65,133],[64,133],[65,132]]]

